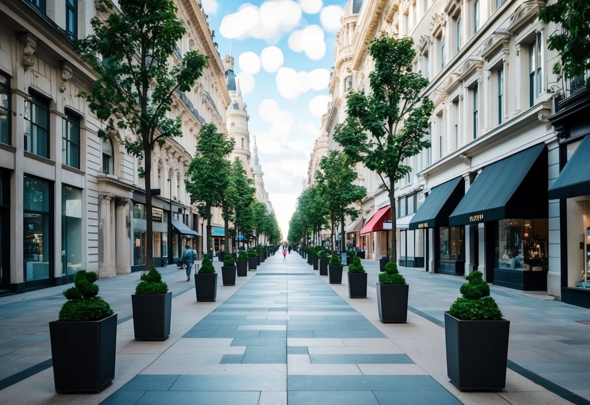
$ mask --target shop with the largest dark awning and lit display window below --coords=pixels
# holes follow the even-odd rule
[[[485,166],[450,215],[450,227],[483,223],[478,237],[468,238],[468,243],[476,251],[483,240],[478,268],[487,282],[519,290],[547,289],[547,168],[545,143]],[[452,240],[450,236],[446,245],[451,253]]]

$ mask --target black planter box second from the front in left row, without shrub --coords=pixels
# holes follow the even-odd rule
[[[133,294],[133,332],[137,340],[164,340],[170,336],[172,292]]]

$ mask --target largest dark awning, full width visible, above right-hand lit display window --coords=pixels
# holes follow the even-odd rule
[[[545,143],[484,167],[457,208],[449,226],[504,218],[547,218]]]

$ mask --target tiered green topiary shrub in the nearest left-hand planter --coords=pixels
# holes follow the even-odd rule
[[[113,315],[109,303],[97,296],[99,286],[94,284],[99,276],[94,272],[78,270],[74,275],[74,287],[64,291],[67,302],[61,307],[60,321],[100,321]]]

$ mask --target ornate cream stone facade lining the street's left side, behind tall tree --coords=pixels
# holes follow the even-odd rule
[[[169,262],[178,257],[187,241],[201,249],[201,222],[185,192],[185,171],[203,123],[227,131],[230,96],[203,11],[193,1],[177,5],[187,32],[171,63],[196,49],[209,64],[194,89],[174,96],[171,116],[182,117],[182,138],[153,153],[152,187],[160,195],[150,213],[153,240],[146,241],[141,162],[121,143],[130,134],[100,139],[100,122],[77,97],[95,76],[71,40],[90,33],[91,18],[106,16],[104,2],[0,1],[2,291],[71,282],[77,269],[99,277],[142,269],[146,243],[153,244],[156,266],[160,256]]]

